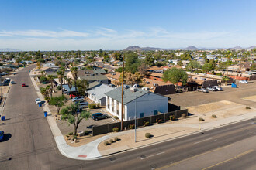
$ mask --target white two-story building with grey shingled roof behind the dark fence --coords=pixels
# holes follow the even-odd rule
[[[106,94],[106,110],[121,119],[122,113],[122,87],[118,87]],[[147,117],[168,112],[168,97],[138,88],[123,90],[123,121],[137,117]]]

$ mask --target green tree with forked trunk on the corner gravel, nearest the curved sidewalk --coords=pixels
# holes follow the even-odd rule
[[[74,124],[74,135],[77,134],[78,125],[83,119],[88,120],[91,117],[91,113],[88,110],[78,113],[78,104],[70,104],[67,107],[61,109],[61,119],[67,121],[69,124]]]

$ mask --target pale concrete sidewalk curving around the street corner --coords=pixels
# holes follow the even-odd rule
[[[36,81],[33,78],[33,71],[30,72],[30,78],[31,78],[31,81],[32,81],[35,89],[36,89],[36,93],[37,93],[38,97],[40,97],[41,100],[44,100],[43,95],[40,93],[39,87],[36,86]],[[81,145],[79,147],[72,147],[70,145],[67,145],[67,143],[64,139],[64,136],[61,134],[61,131],[57,126],[54,116],[51,115],[51,113],[50,113],[48,104],[43,104],[43,111],[48,112],[47,121],[48,121],[50,129],[54,135],[54,139],[56,141],[57,148],[59,149],[59,151],[61,152],[62,155],[66,156],[68,158],[79,159],[79,160],[93,160],[93,159],[102,158],[102,156],[105,156],[105,155],[101,155],[98,150],[98,145],[102,141],[105,141],[109,138],[119,137],[123,134],[134,133],[134,131],[122,131],[119,133],[112,133],[112,134],[103,136],[102,138],[98,138],[95,141],[92,141],[86,145]],[[251,112],[251,113],[243,114],[240,116],[229,117],[229,118],[225,118],[225,119],[222,119],[219,121],[213,121],[213,122],[202,123],[202,124],[156,124],[156,125],[150,126],[150,127],[139,128],[139,129],[137,129],[137,131],[139,132],[139,131],[145,131],[150,128],[166,128],[166,127],[197,128],[197,129],[199,129],[199,131],[206,131],[206,130],[213,129],[213,128],[219,128],[223,125],[236,123],[238,121],[245,121],[245,120],[251,119],[255,116],[256,116],[256,113]],[[199,133],[199,131],[195,131],[190,134]],[[185,134],[185,135],[183,134],[182,136],[178,136],[175,138],[181,138],[183,136],[190,135],[190,134]],[[175,138],[168,138],[168,140],[172,140]],[[162,141],[159,141],[159,142],[162,142]],[[159,143],[159,142],[152,143],[152,141],[148,140],[147,145],[154,145],[155,143]],[[147,145],[140,146],[140,147],[145,147]],[[140,147],[134,147],[134,148],[140,148]],[[127,146],[115,148],[115,149],[112,149],[110,152],[108,152],[108,155],[114,154],[119,151],[130,150],[130,149],[134,149],[134,148],[129,148]]]

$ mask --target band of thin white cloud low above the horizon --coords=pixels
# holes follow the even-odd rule
[[[130,45],[176,48],[185,46],[232,47],[255,45],[254,33],[234,32],[171,32],[161,27],[144,31],[98,27],[76,32],[26,30],[0,31],[0,47],[22,50],[90,50],[125,49]]]

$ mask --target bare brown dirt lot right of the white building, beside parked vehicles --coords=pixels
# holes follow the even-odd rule
[[[191,106],[200,104],[209,104],[220,100],[228,100],[237,104],[244,104],[250,107],[256,107],[256,103],[252,100],[245,100],[244,97],[256,95],[256,81],[249,81],[249,83],[237,83],[237,88],[230,86],[223,87],[223,91],[209,91],[209,93],[202,93],[199,91],[175,93],[166,95],[170,97],[169,103],[181,106],[185,109]]]

